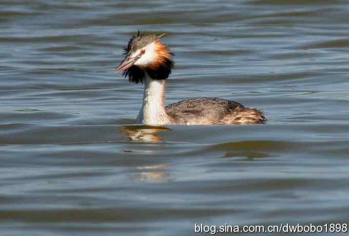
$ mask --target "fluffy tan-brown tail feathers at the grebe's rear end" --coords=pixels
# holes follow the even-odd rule
[[[256,124],[264,123],[266,117],[263,113],[253,108],[239,108],[234,110],[231,114],[226,115],[221,121],[221,124]]]

